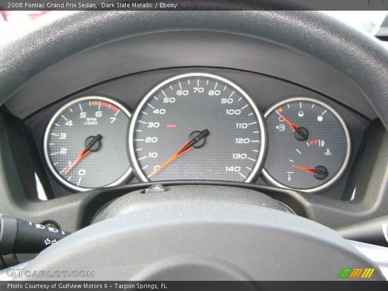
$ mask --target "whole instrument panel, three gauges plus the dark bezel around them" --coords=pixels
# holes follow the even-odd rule
[[[198,179],[351,201],[359,174],[355,159],[364,154],[372,122],[289,80],[179,67],[92,85],[22,124],[36,153],[30,171],[49,198],[139,181]]]

